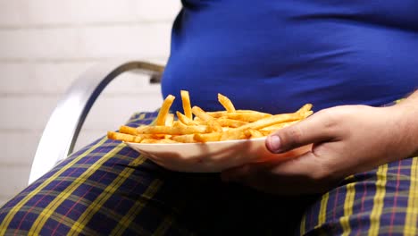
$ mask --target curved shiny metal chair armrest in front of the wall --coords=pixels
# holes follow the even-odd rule
[[[38,144],[29,174],[29,184],[69,156],[79,131],[96,98],[123,72],[149,75],[150,83],[159,83],[164,67],[139,61],[101,63],[81,74],[67,90],[51,114]],[[60,137],[60,139],[56,139]]]

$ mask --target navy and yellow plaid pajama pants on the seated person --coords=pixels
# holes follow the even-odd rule
[[[128,125],[156,113],[135,114]],[[277,197],[175,173],[98,139],[0,208],[0,235],[417,235],[418,157],[381,165],[322,196]]]

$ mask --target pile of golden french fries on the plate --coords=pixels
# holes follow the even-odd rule
[[[314,112],[312,104],[303,105],[292,114],[267,114],[252,110],[236,110],[230,98],[218,94],[224,111],[205,112],[191,106],[188,91],[180,91],[183,114],[170,113],[174,96],[167,96],[151,125],[121,126],[119,132],[108,131],[109,139],[134,143],[204,143],[231,139],[255,139],[304,120]]]

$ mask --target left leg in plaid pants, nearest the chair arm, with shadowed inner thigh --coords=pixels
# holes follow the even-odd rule
[[[155,114],[137,114],[128,125],[154,118]],[[291,201],[222,183],[216,173],[165,170],[121,142],[103,138],[0,208],[0,232],[278,234],[291,229],[286,227],[291,223],[296,227],[305,209],[300,201],[294,201],[295,206]]]

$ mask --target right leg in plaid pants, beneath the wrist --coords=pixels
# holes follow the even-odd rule
[[[418,157],[357,173],[306,209],[301,234],[418,234]]]

